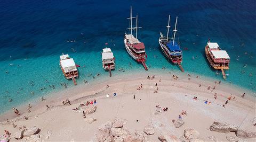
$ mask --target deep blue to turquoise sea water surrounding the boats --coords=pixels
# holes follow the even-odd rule
[[[159,32],[166,34],[170,14],[171,29],[175,16],[178,16],[177,41],[182,49],[188,48],[183,50],[182,66],[186,73],[222,79],[221,72],[210,68],[205,59],[204,47],[210,38],[227,50],[231,58],[227,82],[255,92],[256,2],[253,0],[3,0],[0,3],[0,113],[51,91],[63,89],[60,83],[73,86],[71,81],[63,77],[59,67],[62,52],[81,65],[78,84],[82,84],[84,79],[92,81],[92,76],[88,76],[90,73],[108,75],[101,65],[101,50],[106,42],[116,57],[117,69],[113,75],[121,74],[118,72],[121,67],[125,68],[125,73],[129,70],[145,72],[124,48],[130,5],[133,6],[133,15],[138,14],[139,25],[142,26],[138,38],[145,43],[149,69],[166,67],[170,72],[171,69],[179,69],[166,60],[158,45]],[[76,42],[67,42],[71,40]],[[130,62],[132,68],[128,67]],[[42,87],[45,89],[41,91]],[[13,101],[9,102],[9,98]]]

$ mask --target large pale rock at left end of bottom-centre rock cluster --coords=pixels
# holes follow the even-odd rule
[[[112,122],[105,122],[103,123],[97,131],[96,137],[98,139],[98,141],[105,141],[107,139],[107,137],[110,135],[110,129],[112,127]]]

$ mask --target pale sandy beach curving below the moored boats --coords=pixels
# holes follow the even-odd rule
[[[210,131],[209,127],[214,121],[227,122],[241,129],[255,131],[251,120],[256,117],[256,100],[249,94],[242,98],[241,94],[244,90],[221,83],[211,92],[207,87],[209,85],[213,87],[214,81],[206,81],[205,78],[196,78],[193,75],[189,81],[189,77],[183,75],[175,80],[172,74],[154,74],[153,80],[147,79],[147,75],[153,75],[150,72],[133,76],[123,75],[58,92],[58,95],[46,97],[44,102],[31,103],[33,107],[30,113],[26,111],[27,106],[25,106],[23,109],[18,108],[22,113],[19,117],[15,117],[13,112],[1,116],[3,122],[0,125],[0,134],[4,134],[4,129],[13,134],[19,127],[37,126],[41,129],[40,134],[44,136],[48,130],[52,131],[50,138],[45,141],[98,141],[95,137],[97,128],[106,121],[113,121],[115,117],[127,119],[124,127],[131,132],[143,131],[148,122],[153,122],[155,134],[147,135],[150,141],[159,141],[157,137],[162,131],[180,138],[183,131],[188,128],[196,129],[200,132],[200,137],[206,141],[210,141],[206,138],[208,136],[215,136],[219,141],[227,141],[226,136],[236,137],[234,132],[225,134]],[[158,93],[154,93],[155,83],[159,87]],[[199,87],[200,83],[202,83],[201,87]],[[137,90],[140,84],[143,87]],[[110,87],[107,88],[107,85]],[[218,94],[217,100],[213,98],[215,92]],[[113,93],[117,95],[114,96]],[[107,94],[109,97],[106,97]],[[135,99],[133,99],[134,94]],[[231,94],[235,99],[231,99],[226,108],[222,107]],[[197,96],[198,100],[194,100],[194,96]],[[71,105],[62,104],[67,98],[71,101]],[[90,124],[87,118],[84,119],[81,113],[72,109],[94,99],[97,100],[95,104],[97,110],[87,115],[87,118],[95,118],[97,121]],[[211,104],[205,104],[206,99],[211,101]],[[46,104],[50,109],[46,109]],[[167,106],[169,110],[154,114],[157,104],[162,108]],[[182,110],[187,111],[187,116],[181,116],[185,124],[175,128],[172,119],[178,119]],[[24,116],[27,116],[28,120],[25,120]],[[9,123],[4,121],[6,118],[10,119]],[[12,122],[18,127],[13,128]],[[19,141],[12,135],[10,137],[11,141]],[[246,139],[246,141],[255,141],[255,139]]]

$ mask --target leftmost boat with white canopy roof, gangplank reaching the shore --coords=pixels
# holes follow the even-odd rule
[[[76,77],[78,77],[77,65],[73,58],[70,58],[67,54],[60,56],[60,68],[62,70],[63,75],[67,79],[72,79],[74,84],[76,85]]]

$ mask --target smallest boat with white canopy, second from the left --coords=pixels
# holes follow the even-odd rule
[[[111,77],[111,69],[115,69],[115,57],[110,48],[103,48],[102,53],[102,67],[109,71]]]

